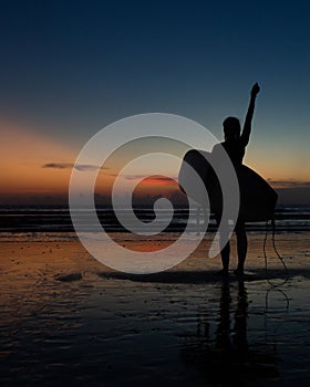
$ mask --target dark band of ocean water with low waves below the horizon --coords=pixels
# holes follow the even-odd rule
[[[179,232],[189,222],[193,232],[199,231],[205,222],[203,211],[197,209],[197,216],[188,220],[188,209],[175,208],[170,219],[168,210],[159,209],[161,221],[166,232]],[[123,216],[127,210],[121,210]],[[149,223],[155,219],[153,208],[135,208],[136,217]],[[85,219],[85,230],[91,231],[87,223],[87,210],[79,210],[79,216]],[[127,231],[117,220],[115,212],[111,208],[97,208],[97,217],[102,227],[107,232]],[[277,231],[310,231],[310,206],[286,206],[278,207],[275,213]],[[165,226],[166,224],[166,226]],[[247,229],[251,231],[265,231],[266,222],[247,223]],[[270,227],[270,226],[269,226]],[[216,222],[214,216],[209,215],[208,230],[214,231]],[[38,206],[38,207],[0,207],[0,233],[8,232],[74,232],[70,210],[66,207]]]

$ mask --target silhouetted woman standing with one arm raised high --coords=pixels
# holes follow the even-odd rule
[[[250,102],[248,112],[245,119],[245,125],[241,133],[241,126],[240,122],[236,117],[227,117],[224,123],[224,136],[225,142],[220,145],[225,148],[227,151],[232,165],[237,169],[241,164],[242,159],[246,153],[246,146],[249,143],[249,137],[251,133],[251,121],[255,109],[255,100],[257,94],[259,93],[259,85],[256,83],[250,92]],[[213,153],[216,153],[217,147],[220,146],[215,145]],[[217,222],[220,221],[220,215],[216,215]],[[244,273],[244,266],[245,261],[247,257],[247,248],[248,248],[248,241],[247,241],[247,234],[245,229],[245,222],[240,219],[237,220],[235,226],[235,232],[237,237],[237,253],[238,253],[238,266],[235,271],[237,274]],[[220,236],[219,238],[226,238],[227,236]],[[230,243],[229,241],[226,243],[226,245],[223,248],[221,252],[221,263],[223,263],[223,274],[228,274],[229,269],[229,255],[230,255]]]

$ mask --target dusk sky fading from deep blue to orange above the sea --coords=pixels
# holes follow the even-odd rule
[[[259,82],[245,163],[309,203],[309,15],[303,0],[0,1],[1,202],[65,197],[82,146],[126,116],[186,116],[221,140]]]

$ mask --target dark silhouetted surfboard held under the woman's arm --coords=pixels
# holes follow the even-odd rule
[[[205,207],[209,199],[210,211],[220,215],[223,195],[216,174],[208,161],[210,159],[211,154],[208,151],[188,150],[180,165],[178,184],[183,192],[199,206]],[[239,219],[245,222],[272,219],[278,199],[277,192],[251,168],[241,165],[235,169],[240,190]],[[205,189],[198,188],[198,179],[203,180]]]

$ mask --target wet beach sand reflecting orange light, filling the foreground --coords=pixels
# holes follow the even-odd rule
[[[114,236],[137,251],[175,237]],[[308,386],[310,233],[277,236],[288,281],[268,241],[269,282],[264,234],[249,234],[244,281],[234,258],[228,281],[216,275],[210,238],[149,275],[111,270],[75,239],[2,241],[1,386]]]

